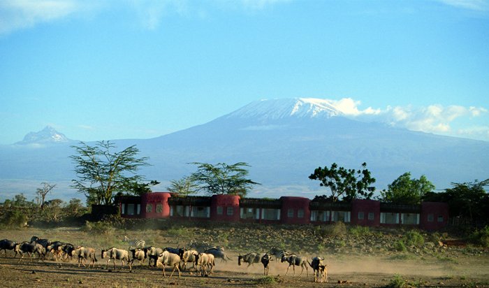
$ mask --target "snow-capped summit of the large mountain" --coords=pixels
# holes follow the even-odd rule
[[[226,117],[280,120],[289,117],[329,118],[342,114],[326,99],[293,98],[254,101]]]

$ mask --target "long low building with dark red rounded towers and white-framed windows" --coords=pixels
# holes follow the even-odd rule
[[[203,219],[220,222],[265,224],[330,224],[360,226],[411,226],[425,230],[448,224],[448,204],[423,202],[395,205],[368,199],[351,203],[282,196],[279,199],[243,198],[237,195],[175,196],[152,192],[116,199],[122,217]]]

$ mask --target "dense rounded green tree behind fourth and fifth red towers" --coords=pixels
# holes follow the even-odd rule
[[[381,197],[388,203],[416,205],[421,203],[425,194],[433,190],[435,185],[425,175],[421,175],[419,179],[411,179],[411,173],[406,172],[389,184],[387,191],[381,192]]]

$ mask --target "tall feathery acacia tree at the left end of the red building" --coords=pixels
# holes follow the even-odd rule
[[[80,142],[72,146],[76,154],[71,156],[78,180],[71,180],[71,187],[87,196],[89,204],[111,205],[114,195],[128,189],[129,183],[141,182],[143,176],[136,174],[141,166],[148,166],[147,157],[137,157],[136,145],[120,152],[110,141],[98,141],[90,146]]]

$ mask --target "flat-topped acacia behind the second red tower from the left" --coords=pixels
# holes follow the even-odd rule
[[[260,185],[247,178],[249,167],[245,162],[228,165],[218,163],[216,165],[194,162],[197,171],[191,174],[191,179],[198,185],[199,190],[203,190],[209,195],[214,194],[233,194],[246,196],[253,185]]]

